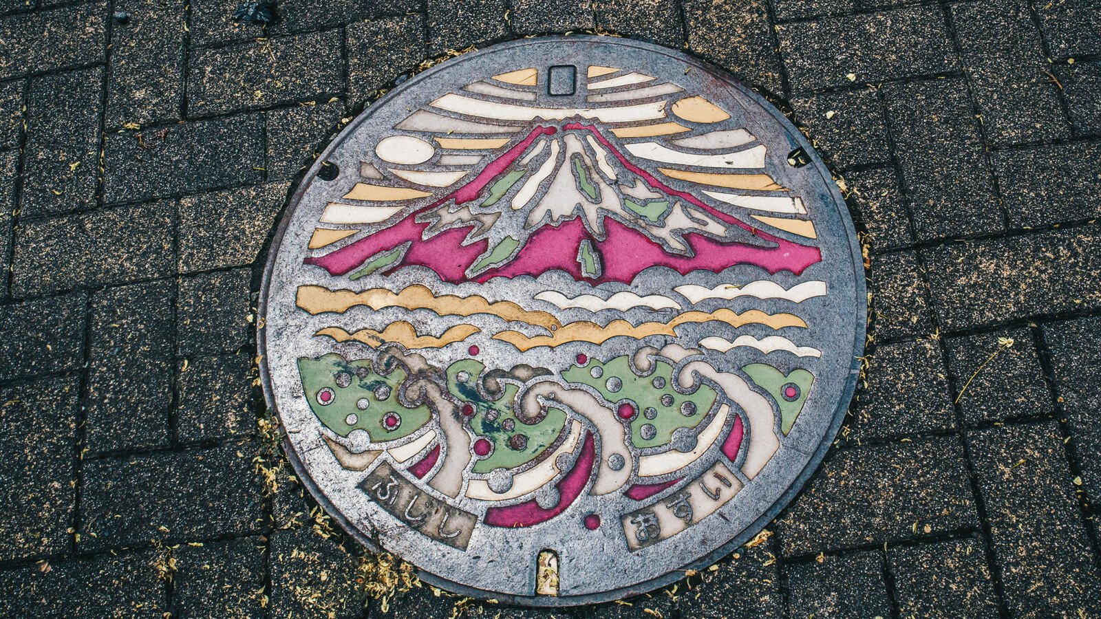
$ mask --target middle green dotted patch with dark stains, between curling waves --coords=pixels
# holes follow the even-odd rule
[[[487,400],[478,393],[476,385],[483,371],[486,366],[475,359],[462,359],[447,368],[447,390],[459,399],[460,410],[464,404],[473,406],[473,414],[469,417],[470,430],[478,438],[486,438],[493,444],[493,452],[477,460],[472,471],[487,474],[498,468],[513,469],[538,458],[566,426],[565,411],[549,408],[542,420],[528,425],[520,421],[512,411],[512,402],[520,391],[515,384],[505,383],[499,400]],[[459,380],[459,372],[467,372],[465,382]],[[504,427],[508,420],[512,422],[512,431]],[[522,449],[515,449],[509,444],[510,438],[515,435],[526,438]]]

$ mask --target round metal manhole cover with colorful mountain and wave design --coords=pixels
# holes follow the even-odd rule
[[[320,161],[268,264],[264,387],[314,496],[429,582],[648,590],[755,534],[832,441],[855,234],[724,74],[515,41],[405,82]]]

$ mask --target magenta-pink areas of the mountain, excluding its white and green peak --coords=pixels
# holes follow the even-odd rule
[[[457,206],[482,197],[487,193],[487,187],[505,175],[512,164],[530,150],[535,140],[558,132],[556,127],[536,127],[523,140],[490,162],[476,178],[458,189],[407,215],[394,226],[325,256],[307,258],[306,263],[321,267],[333,275],[344,275],[379,252],[390,251],[412,241],[403,259],[391,267],[390,271],[404,265],[419,264],[435,271],[444,281],[461,283],[467,281],[484,282],[498,276],[538,276],[544,272],[557,269],[569,273],[576,280],[581,280],[584,275],[577,257],[581,243],[589,241],[599,253],[602,262],[600,273],[596,278],[589,278],[589,280],[592,283],[631,283],[640,272],[654,265],[668,267],[684,274],[697,269],[718,272],[734,264],[754,264],[770,273],[791,271],[799,274],[810,264],[821,260],[821,252],[816,247],[756,230],[744,221],[707,205],[691,194],[668,187],[645,170],[634,165],[596,127],[580,122],[568,122],[563,126],[562,130],[588,132],[618,160],[622,167],[642,178],[652,189],[667,196],[678,197],[699,207],[720,221],[741,228],[751,236],[754,242],[761,242],[761,245],[717,240],[686,230],[683,234],[683,239],[691,251],[673,253],[645,234],[612,217],[603,217],[603,235],[598,236],[590,230],[590,226],[586,225],[582,217],[574,216],[543,224],[527,237],[512,260],[481,271],[473,276],[468,276],[468,269],[489,248],[489,241],[484,238],[469,240],[475,230],[481,227],[480,222],[473,220],[467,226],[445,229],[425,239],[425,231],[432,227],[433,222],[417,221],[418,216],[442,205],[450,207],[453,205],[448,205],[448,203],[451,200]],[[601,236],[603,238],[600,238]]]

